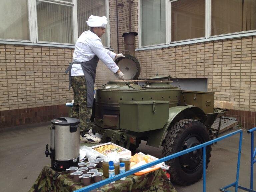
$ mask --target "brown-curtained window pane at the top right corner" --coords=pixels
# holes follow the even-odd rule
[[[211,35],[256,29],[255,0],[214,0],[211,12]]]

